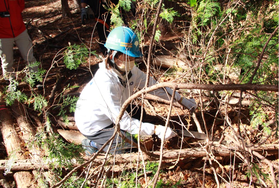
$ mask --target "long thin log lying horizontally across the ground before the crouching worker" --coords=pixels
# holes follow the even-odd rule
[[[265,145],[250,145],[248,146],[249,149],[252,151],[257,152],[263,152],[266,155],[278,155],[279,146],[278,144],[265,144]],[[235,149],[235,147],[225,147],[224,145],[216,144],[211,147],[211,151],[214,154],[214,156],[232,156],[236,151],[242,151],[241,148]],[[154,151],[152,152],[153,156],[160,156],[160,151]],[[164,160],[176,160],[179,156],[180,159],[182,158],[198,158],[198,157],[204,157],[207,155],[207,152],[203,148],[187,148],[187,149],[177,149],[177,150],[167,150],[164,151]],[[146,161],[157,161],[157,157],[150,157],[146,154],[143,154],[143,157]],[[104,154],[100,154],[97,156],[97,158],[94,160],[95,164],[102,164],[103,159],[105,158]],[[90,157],[84,157],[85,160],[89,160]],[[112,162],[113,164],[127,164],[127,163],[134,163],[134,161],[137,161],[138,159],[138,153],[131,153],[131,154],[118,154],[118,155],[111,155],[108,158],[108,162]],[[7,160],[0,160],[0,171],[5,170]],[[45,162],[44,165],[42,165],[43,161],[30,161],[29,159],[22,159],[22,160],[16,160],[14,162],[14,165],[12,166],[12,171],[18,171],[18,170],[33,170],[33,169],[48,169],[50,162]],[[75,163],[75,166],[78,166],[79,164]]]

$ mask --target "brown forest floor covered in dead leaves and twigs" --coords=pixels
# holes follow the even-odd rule
[[[92,79],[92,75],[94,75],[94,72],[96,72],[98,69],[98,63],[102,62],[103,58],[102,53],[99,50],[99,44],[97,42],[97,29],[94,29],[95,21],[89,19],[86,20],[86,25],[82,25],[79,12],[77,14],[73,13],[72,18],[63,19],[61,17],[61,5],[59,0],[26,0],[25,6],[26,8],[22,15],[24,18],[24,22],[26,23],[29,36],[31,37],[34,44],[34,55],[37,61],[41,62],[41,68],[47,70],[48,74],[47,77],[44,76],[44,91],[36,92],[40,93],[48,100],[58,78],[60,79],[60,89],[56,91],[57,94],[61,93],[63,91],[63,88],[68,84],[71,86],[79,86],[78,88],[71,89],[70,92],[81,92],[84,86],[89,82],[89,80]],[[129,18],[127,17],[127,19]],[[161,43],[177,42],[175,39],[173,39],[174,35],[175,34],[171,33],[168,35],[163,35],[161,38]],[[101,58],[98,59],[97,57],[92,55],[90,58],[88,58],[87,63],[78,67],[77,70],[69,70],[64,65],[62,58],[63,52],[66,49],[66,47],[69,46],[69,43],[84,43],[87,47],[90,47],[90,50],[96,50],[96,53]],[[167,48],[167,45],[165,47]],[[16,70],[22,70],[25,66],[23,59],[20,56],[19,50],[16,47],[14,48],[14,62],[14,67]],[[146,70],[144,66],[140,66],[140,68],[143,71]],[[164,71],[165,70],[162,70],[162,72]],[[19,75],[18,80],[21,80],[23,78],[22,76],[23,75]],[[3,86],[0,90],[3,91],[2,88],[4,88],[6,82],[3,79],[1,79],[0,84],[1,86]],[[21,87],[20,90],[26,93],[27,95],[31,95],[30,88],[26,85],[23,85],[23,87]],[[160,122],[163,122],[162,118],[158,117],[157,119],[154,119],[154,117],[157,113],[159,113],[162,117],[167,116],[168,106],[154,102],[150,102],[150,104],[154,107],[154,109],[149,108],[147,106],[146,111],[147,114],[150,115],[150,120],[152,121],[152,123],[159,124]],[[154,113],[154,111],[156,113]],[[208,127],[211,127],[213,125],[216,112],[217,110],[213,108],[208,108],[208,110],[205,111],[205,119],[207,119]],[[36,115],[36,112],[30,113],[34,113]],[[188,118],[188,114],[185,114],[184,111],[182,111],[182,109],[180,108],[175,108],[175,110],[172,111],[172,120],[174,123],[171,126],[177,126],[175,125],[175,121],[178,118],[177,114],[181,116],[182,120],[185,121],[185,124],[187,125],[186,119]],[[68,115],[73,116],[73,114]],[[229,118],[232,120],[232,124],[235,125],[235,128],[237,128],[237,125],[235,124],[235,121],[237,121],[237,119],[235,119],[236,116],[238,116],[238,114],[236,114],[236,112],[233,110],[229,114]],[[250,126],[248,122],[248,117],[250,116],[249,110],[245,111],[245,109],[243,109],[241,116],[243,116],[243,121],[241,123],[246,125],[247,129]],[[40,115],[39,117],[43,118],[42,115]],[[200,118],[199,120],[202,121],[200,114],[198,114],[198,118]],[[193,122],[190,122],[188,128],[196,130],[193,124]],[[221,120],[221,118],[219,122],[215,122],[214,125],[217,126],[215,128],[215,134],[222,131],[223,124],[224,122]],[[257,132],[252,132],[251,136],[253,137],[251,138],[251,143],[256,142],[253,139],[257,139]],[[153,150],[158,150],[160,143],[158,140],[156,140],[156,138],[153,139],[155,144]],[[179,141],[177,138],[171,139],[165,144],[165,149],[179,149],[180,145],[178,144],[178,142]],[[204,143],[204,141],[196,142],[194,139],[187,138],[185,140],[184,147],[192,147],[192,145],[189,143],[193,142]],[[276,138],[269,138],[270,144],[276,142]],[[1,151],[4,151],[4,145],[0,145],[0,149]],[[5,159],[6,157],[7,154],[5,154],[5,152],[1,152],[0,159]],[[230,163],[230,161],[233,160],[233,157],[219,157],[216,159],[217,160],[213,162],[213,166],[217,168],[218,163],[221,163],[224,166],[223,170],[225,170],[225,173],[221,173],[222,170],[219,168],[217,168],[217,173],[220,172],[220,175],[223,176],[224,179],[227,179],[227,182],[221,181],[221,187],[231,187],[232,184],[228,183],[230,182],[230,178],[237,180],[234,182],[233,187],[249,187],[250,179],[246,177],[247,166],[242,166],[242,161],[240,159],[236,159],[234,161],[236,168],[233,174],[230,168],[231,165],[233,165]],[[278,156],[277,159],[274,158],[274,156],[271,156],[270,160],[278,160]],[[160,179],[162,179],[165,184],[170,183],[169,187],[173,185],[175,185],[175,187],[187,188],[202,187],[203,179],[205,179],[205,187],[216,187],[217,184],[215,182],[215,177],[212,172],[212,168],[208,164],[208,161],[205,161],[205,157],[181,159],[179,163],[175,166],[165,168],[163,173],[160,175]],[[268,166],[266,166],[266,164],[262,164],[261,168],[268,169]],[[230,177],[230,175],[234,177]]]

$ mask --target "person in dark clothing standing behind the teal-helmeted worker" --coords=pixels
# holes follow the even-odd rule
[[[87,18],[87,12],[86,12],[86,6],[88,5],[95,15],[96,20],[96,26],[97,26],[97,32],[99,35],[99,46],[100,49],[105,56],[107,53],[107,48],[104,47],[104,43],[107,40],[107,36],[109,35],[109,27],[110,27],[110,18],[112,16],[111,12],[107,10],[109,6],[108,3],[113,3],[115,5],[118,4],[119,0],[81,0],[81,19]],[[131,2],[131,10],[132,14],[135,16],[136,9],[134,7],[134,4]],[[122,16],[122,20],[125,24],[125,19]]]

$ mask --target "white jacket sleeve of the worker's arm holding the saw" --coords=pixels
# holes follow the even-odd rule
[[[121,92],[118,85],[114,85],[111,80],[108,82],[108,84],[102,82],[103,84],[98,87],[102,95],[99,101],[100,109],[115,123],[121,109],[121,96],[118,95]],[[139,125],[139,120],[131,118],[126,111],[124,112],[120,121],[120,129],[132,134],[137,134]],[[144,135],[152,135],[154,134],[154,125],[151,123],[142,123],[140,132]]]

